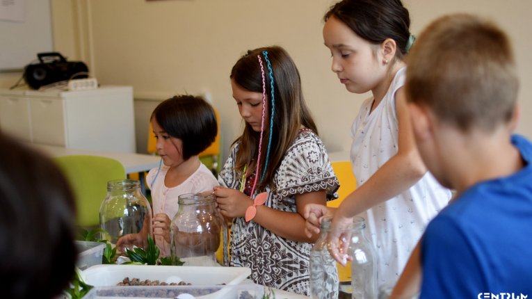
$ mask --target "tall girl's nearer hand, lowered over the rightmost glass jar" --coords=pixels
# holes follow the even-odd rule
[[[334,213],[328,234],[328,250],[330,255],[342,266],[353,257],[348,256],[350,232],[348,228],[353,223],[353,218]]]

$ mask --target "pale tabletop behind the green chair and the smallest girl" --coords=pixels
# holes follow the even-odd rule
[[[38,149],[47,156],[71,156],[71,155],[89,155],[89,156],[105,156],[107,158],[120,161],[124,166],[126,173],[144,172],[159,166],[161,161],[159,156],[152,156],[150,154],[134,154],[130,152],[105,152],[92,151],[87,149],[70,149],[66,147],[58,147],[54,145],[43,145],[31,143],[31,147]]]

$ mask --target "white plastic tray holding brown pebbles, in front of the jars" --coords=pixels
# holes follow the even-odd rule
[[[239,284],[250,274],[245,267],[96,265],[83,270],[85,282],[92,286],[116,286],[125,277],[165,282],[176,276],[192,285],[214,286]]]

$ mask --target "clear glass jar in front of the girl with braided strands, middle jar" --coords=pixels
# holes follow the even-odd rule
[[[216,208],[212,193],[179,195],[179,209],[170,225],[170,254],[184,266],[216,266],[216,250],[223,240],[227,266],[227,223]]]

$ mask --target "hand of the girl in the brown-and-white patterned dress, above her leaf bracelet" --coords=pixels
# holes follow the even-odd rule
[[[248,195],[232,188],[214,187],[218,209],[225,217],[244,217],[245,210],[253,204]]]

